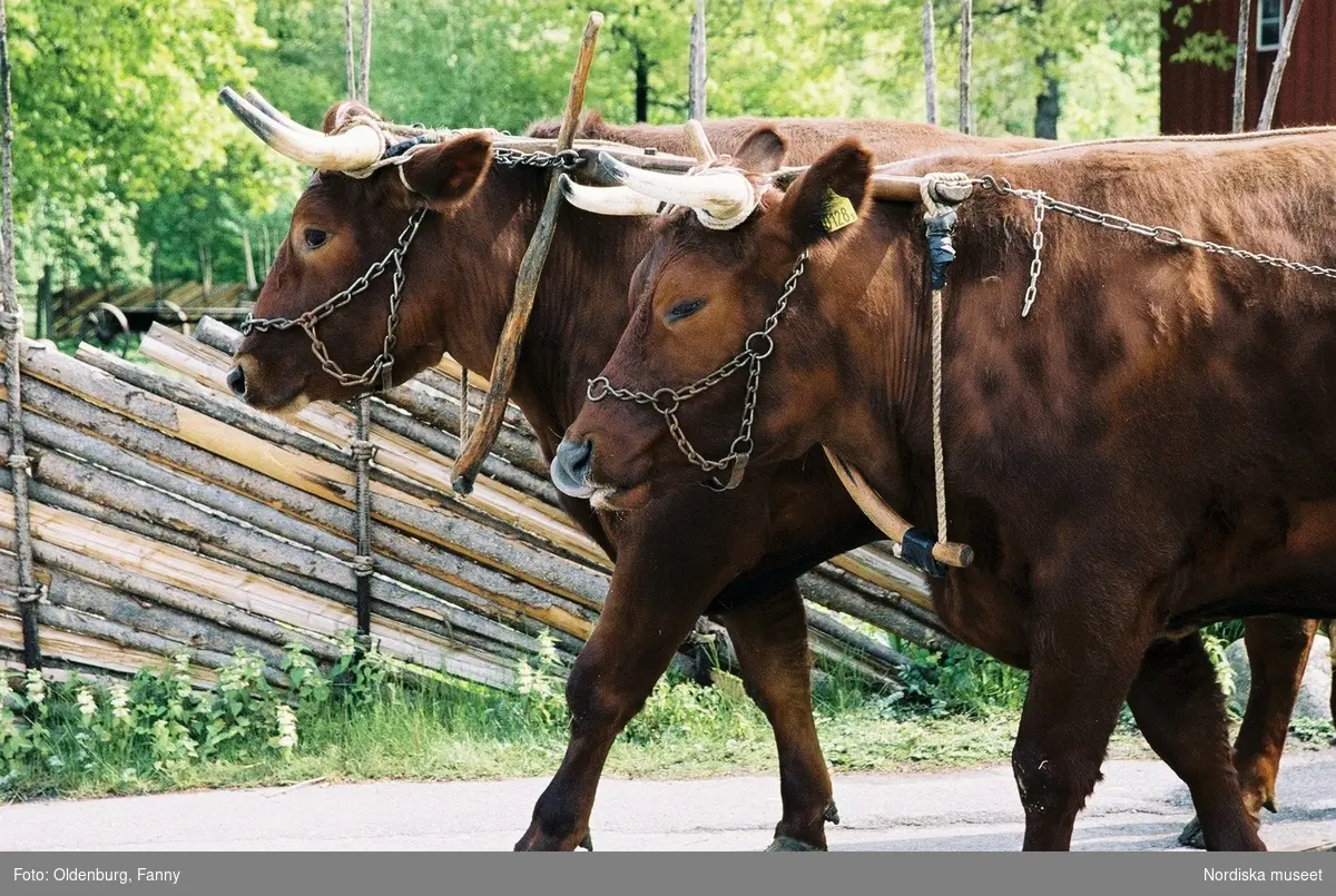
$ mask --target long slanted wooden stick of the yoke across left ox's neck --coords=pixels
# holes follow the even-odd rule
[[[576,126],[580,120],[580,109],[584,107],[585,81],[589,80],[589,67],[593,64],[595,43],[599,39],[599,28],[603,27],[603,13],[591,12],[589,21],[585,23],[584,36],[580,40],[580,57],[576,60],[574,73],[570,76],[570,92],[566,96],[566,111],[561,119],[561,130],[557,134],[557,151],[569,150],[574,142]],[[557,210],[561,207],[561,179],[553,174],[548,182],[548,196],[542,204],[542,214],[538,226],[529,240],[529,248],[520,262],[520,275],[514,283],[514,302],[510,314],[506,315],[505,327],[501,330],[501,342],[497,346],[496,359],[492,363],[492,375],[488,377],[488,393],[482,398],[482,407],[478,410],[478,419],[473,426],[469,441],[460,450],[460,457],[454,461],[450,486],[460,494],[473,491],[473,481],[482,469],[482,461],[501,431],[501,422],[505,418],[506,402],[510,398],[510,386],[514,382],[514,366],[520,358],[520,346],[524,343],[524,334],[529,327],[529,315],[533,312],[533,300],[538,294],[538,276],[542,266],[548,260],[548,250],[552,247],[552,236],[557,227]]]

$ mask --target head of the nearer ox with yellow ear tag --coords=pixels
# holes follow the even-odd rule
[[[679,175],[677,182],[693,183],[676,195],[671,176],[647,180],[637,172],[623,179],[637,191],[689,208],[664,220],[655,247],[636,271],[631,323],[604,367],[607,381],[652,395],[709,377],[744,349],[768,351],[751,443],[743,447],[749,449],[752,463],[798,457],[810,449],[818,441],[811,431],[812,419],[819,417],[814,402],[822,401],[820,390],[830,385],[814,375],[830,370],[830,355],[812,332],[816,312],[810,302],[803,307],[811,283],[796,282],[790,296],[795,307],[775,328],[772,349],[749,334],[764,328],[800,258],[819,254],[856,230],[844,230],[844,224],[864,208],[871,174],[872,155],[856,140],[847,140],[787,191],[755,171],[715,172],[729,183],[711,187],[695,180],[699,175]],[[740,214],[747,194],[754,199],[747,214]],[[566,430],[552,466],[553,481],[568,494],[591,497],[596,506],[627,509],[681,483],[705,479],[665,423],[664,406],[675,407],[680,435],[704,458],[739,450],[747,369],[689,398],[661,399],[659,410],[651,403],[600,397],[599,383],[592,386],[595,401],[585,402]],[[717,478],[728,479],[729,470]]]

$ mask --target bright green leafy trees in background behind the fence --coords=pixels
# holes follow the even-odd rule
[[[683,120],[695,3],[599,5],[588,107]],[[1154,130],[1158,9],[981,0],[978,130],[1031,132],[1045,77],[1062,84],[1062,138]],[[919,0],[709,0],[709,112],[922,119],[919,11]],[[377,0],[373,105],[403,122],[520,131],[560,111],[585,13],[569,0]],[[957,118],[958,15],[938,3],[943,122]],[[301,175],[215,91],[254,84],[318,123],[347,91],[338,0],[17,0],[11,40],[25,290],[44,272],[57,288],[240,280],[247,243],[263,275]]]

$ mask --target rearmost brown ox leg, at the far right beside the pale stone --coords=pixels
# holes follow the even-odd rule
[[[1244,624],[1252,682],[1248,709],[1234,741],[1234,768],[1244,805],[1257,824],[1263,808],[1276,811],[1280,754],[1316,633],[1316,620],[1288,616],[1256,616]],[[1205,848],[1197,819],[1184,828],[1178,843]]]

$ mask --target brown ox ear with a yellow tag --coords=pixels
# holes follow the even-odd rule
[[[858,140],[838,143],[794,182],[779,204],[779,224],[807,248],[832,239],[863,212],[872,154]]]

